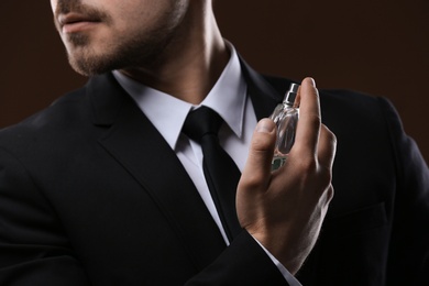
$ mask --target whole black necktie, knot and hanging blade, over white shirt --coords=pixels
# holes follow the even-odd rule
[[[240,232],[235,194],[240,170],[221,147],[218,131],[223,120],[213,110],[201,107],[189,112],[183,132],[201,145],[202,167],[215,206],[230,241]]]

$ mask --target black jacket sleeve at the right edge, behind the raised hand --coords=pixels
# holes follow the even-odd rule
[[[429,285],[429,170],[393,106],[383,98],[380,103],[389,127],[397,173],[387,285]]]

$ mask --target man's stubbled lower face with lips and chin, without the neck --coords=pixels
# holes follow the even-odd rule
[[[51,1],[72,65],[84,74],[153,65],[182,22],[186,1]],[[150,7],[151,9],[147,9]],[[80,22],[80,29],[75,21]],[[75,23],[74,30],[68,26]],[[84,26],[85,25],[85,26]],[[78,30],[76,30],[78,29]]]

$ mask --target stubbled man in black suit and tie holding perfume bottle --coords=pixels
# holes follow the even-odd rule
[[[263,118],[290,81],[240,58],[210,0],[51,4],[91,79],[0,134],[1,285],[427,283],[429,173],[384,99],[322,94],[324,125],[306,78],[295,145],[272,172]],[[206,107],[242,170],[238,231],[186,130]]]

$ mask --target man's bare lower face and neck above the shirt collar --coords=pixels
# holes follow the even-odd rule
[[[228,63],[210,1],[52,0],[72,67],[82,75],[128,76],[199,103]],[[67,31],[68,21],[86,24]]]

